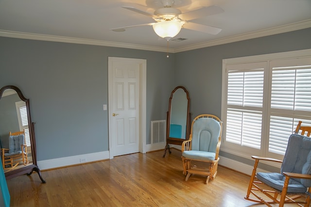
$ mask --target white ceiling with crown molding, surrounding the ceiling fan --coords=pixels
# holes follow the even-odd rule
[[[109,30],[155,22],[121,7],[136,4],[146,7],[149,13],[162,7],[161,0],[0,0],[0,36],[164,50],[167,42],[155,34],[152,26],[128,28],[125,32]],[[212,35],[182,29],[173,39],[187,40],[169,41],[170,51],[311,27],[311,0],[175,0],[174,7],[185,13],[211,5],[224,12],[192,22],[222,31]]]

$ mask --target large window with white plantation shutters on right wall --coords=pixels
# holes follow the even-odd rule
[[[223,151],[282,159],[298,121],[311,125],[311,50],[297,53],[224,60]]]

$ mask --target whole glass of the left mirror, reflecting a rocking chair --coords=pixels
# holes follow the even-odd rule
[[[26,102],[13,89],[0,99],[0,147],[4,172],[33,164]]]

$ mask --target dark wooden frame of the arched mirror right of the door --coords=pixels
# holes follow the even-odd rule
[[[178,89],[183,89],[184,92],[187,95],[187,100],[188,100],[188,104],[187,104],[187,120],[186,120],[186,138],[185,139],[179,139],[179,138],[173,138],[170,137],[170,126],[171,126],[171,110],[172,110],[172,100],[173,100],[173,96],[174,93],[178,90]],[[190,119],[191,119],[191,114],[190,114],[190,97],[189,97],[189,92],[187,91],[187,89],[183,86],[177,86],[174,88],[174,90],[171,93],[170,99],[169,99],[169,111],[167,111],[166,114],[166,145],[165,145],[165,149],[164,149],[164,155],[163,158],[166,155],[166,151],[169,150],[169,153],[171,154],[171,150],[170,150],[170,144],[176,144],[176,145],[181,145],[185,140],[189,140],[189,134],[190,134]]]

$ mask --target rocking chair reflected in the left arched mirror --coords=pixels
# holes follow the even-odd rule
[[[3,169],[13,169],[19,163],[28,164],[25,129],[18,132],[10,132],[8,148],[1,148]]]

